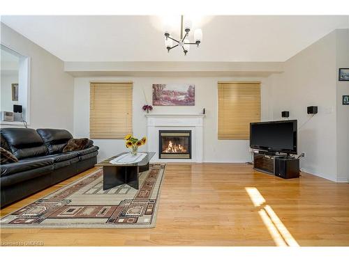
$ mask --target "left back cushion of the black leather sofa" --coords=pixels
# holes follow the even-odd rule
[[[17,159],[38,157],[48,152],[43,139],[35,129],[3,128],[0,132]]]

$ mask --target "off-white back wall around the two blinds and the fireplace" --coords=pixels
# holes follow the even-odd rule
[[[74,88],[74,135],[89,136],[89,81],[133,81],[133,132],[135,136],[147,135],[147,118],[142,106],[146,103],[143,89],[151,104],[152,84],[195,84],[195,106],[154,106],[151,113],[201,113],[204,119],[204,161],[246,162],[251,161],[249,141],[218,141],[218,81],[262,81],[262,118],[268,118],[268,102],[265,95],[265,78],[232,77],[76,77]],[[99,159],[105,159],[126,150],[122,140],[94,140],[101,147]],[[147,150],[145,146],[142,150]]]

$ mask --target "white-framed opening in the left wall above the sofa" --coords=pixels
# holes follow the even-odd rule
[[[1,45],[1,125],[29,124],[30,58]]]

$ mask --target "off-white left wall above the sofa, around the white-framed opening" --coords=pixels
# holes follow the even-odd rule
[[[63,61],[2,23],[1,44],[31,57],[29,127],[61,128],[73,132],[74,79],[64,72]]]

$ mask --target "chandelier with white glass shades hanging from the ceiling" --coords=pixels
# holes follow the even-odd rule
[[[185,31],[186,33],[184,36],[183,36],[183,31]],[[186,19],[183,23],[183,15],[181,15],[181,38],[179,40],[172,38],[172,35],[170,34],[170,30],[165,29],[165,47],[166,49],[168,49],[168,52],[170,52],[170,49],[173,49],[174,47],[179,46],[183,49],[184,55],[186,55],[189,49],[191,48],[191,45],[196,45],[196,47],[199,47],[200,43],[202,42],[202,30],[195,29],[194,42],[190,42],[188,39],[190,31],[191,31],[191,21],[189,19]]]

